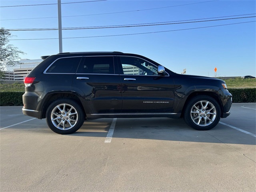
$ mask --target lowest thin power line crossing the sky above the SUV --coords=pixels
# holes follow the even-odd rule
[[[214,26],[206,26],[206,27],[187,28],[187,29],[177,29],[177,30],[167,30],[167,31],[156,31],[156,32],[144,32],[144,33],[132,33],[132,34],[118,34],[118,35],[103,35],[103,36],[87,36],[87,37],[66,37],[66,38],[63,38],[63,39],[96,38],[96,37],[113,37],[113,36],[127,36],[127,35],[139,35],[139,34],[152,34],[152,33],[173,32],[173,31],[183,31],[183,30],[202,29],[202,28],[210,28],[210,27],[218,27],[218,26],[227,26],[227,25],[235,25],[235,24],[251,23],[251,22],[256,22],[256,21],[248,21],[248,22],[240,22],[240,23],[231,23],[231,24],[223,24],[223,25],[214,25]],[[14,40],[52,40],[52,39],[58,39],[58,38],[10,39],[10,41],[14,41]]]

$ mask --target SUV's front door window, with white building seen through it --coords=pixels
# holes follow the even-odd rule
[[[146,60],[120,56],[122,68],[126,75],[158,75],[157,67]]]

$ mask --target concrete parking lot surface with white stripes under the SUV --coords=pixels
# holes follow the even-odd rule
[[[0,107],[0,191],[256,191],[256,104],[212,130],[182,119],[87,120],[59,135]]]

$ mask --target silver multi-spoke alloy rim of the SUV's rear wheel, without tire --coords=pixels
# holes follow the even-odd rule
[[[59,104],[51,112],[52,124],[60,130],[69,130],[76,125],[78,112],[69,104]]]

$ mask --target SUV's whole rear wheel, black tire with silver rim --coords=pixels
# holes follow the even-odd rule
[[[46,122],[58,134],[72,134],[83,125],[84,111],[72,99],[58,99],[46,110]]]

